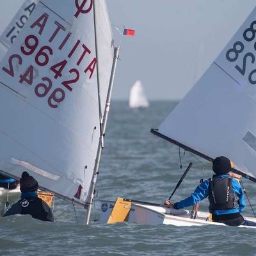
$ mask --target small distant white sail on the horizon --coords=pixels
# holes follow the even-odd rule
[[[136,81],[129,95],[129,107],[130,108],[147,108],[149,106],[147,97],[144,92],[141,81]]]

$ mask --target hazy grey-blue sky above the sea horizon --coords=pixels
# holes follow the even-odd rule
[[[23,1],[0,1],[1,33]],[[149,100],[182,99],[256,6],[255,0],[106,2],[116,45],[116,28],[136,31],[122,40],[115,100],[128,100],[136,80]]]

